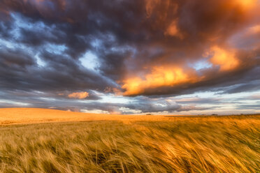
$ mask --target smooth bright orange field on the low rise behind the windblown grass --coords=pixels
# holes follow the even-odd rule
[[[132,116],[122,114],[87,114],[81,112],[68,112],[61,110],[48,110],[38,108],[1,108],[0,125],[19,123],[45,123],[68,121],[143,121],[167,120],[165,116]]]

